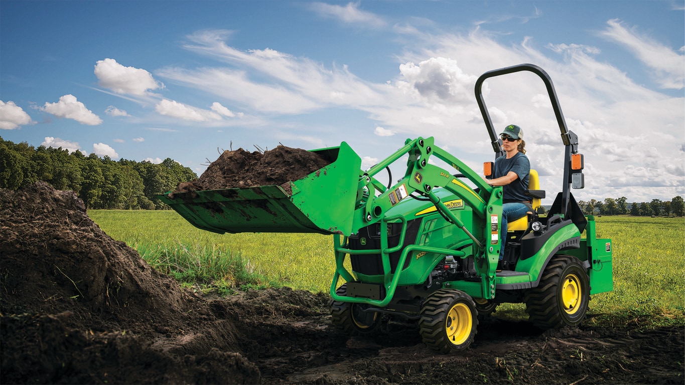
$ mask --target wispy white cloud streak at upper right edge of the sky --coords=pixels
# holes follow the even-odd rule
[[[618,19],[607,21],[607,24],[609,26],[601,32],[602,36],[623,45],[641,62],[656,71],[653,75],[663,88],[683,88],[685,55],[638,34],[635,28],[627,29]]]

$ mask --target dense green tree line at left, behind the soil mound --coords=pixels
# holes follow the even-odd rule
[[[168,209],[155,194],[195,178],[195,172],[171,158],[160,164],[114,161],[61,147],[14,144],[0,137],[0,188],[45,181],[55,189],[75,191],[87,209]]]

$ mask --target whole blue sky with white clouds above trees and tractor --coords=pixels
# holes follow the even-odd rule
[[[0,136],[112,159],[349,143],[367,168],[436,137],[493,160],[473,96],[532,63],[580,137],[579,200],[685,194],[684,1],[0,1]],[[541,81],[484,85],[547,190],[562,146]],[[398,168],[401,170],[401,168]],[[397,178],[397,172],[395,172]]]

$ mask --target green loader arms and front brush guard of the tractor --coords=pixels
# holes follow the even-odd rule
[[[395,183],[392,187],[386,188],[379,183],[375,178],[375,174],[382,172],[388,165],[397,161],[397,159],[409,155],[407,161],[407,168],[404,176]],[[435,156],[438,159],[445,161],[445,163],[452,166],[453,171],[445,170],[436,165],[430,164],[430,157]],[[471,189],[468,185],[453,174],[456,171],[458,174],[468,178],[471,183],[476,186],[476,189]],[[440,198],[434,193],[436,187],[447,189],[452,194],[459,196],[473,209],[473,213],[477,215],[482,221],[488,221],[488,224],[495,224],[492,226],[481,226],[484,229],[483,233],[473,234],[464,226],[462,221],[454,215],[445,202],[440,201]],[[478,192],[476,192],[477,190]],[[379,195],[375,195],[375,192]],[[471,170],[462,161],[453,157],[442,148],[434,145],[433,137],[419,137],[415,140],[407,140],[405,146],[399,148],[393,155],[384,159],[377,165],[370,168],[368,171],[360,175],[359,192],[360,201],[356,205],[356,210],[353,217],[352,233],[356,233],[360,228],[375,224],[377,222],[390,223],[400,221],[402,230],[399,232],[401,240],[395,248],[388,248],[387,244],[387,226],[380,226],[382,245],[379,250],[369,250],[371,253],[379,253],[382,255],[382,266],[384,271],[384,289],[386,295],[383,299],[369,299],[365,297],[343,297],[336,294],[336,286],[338,279],[342,277],[348,282],[354,280],[352,274],[347,271],[344,266],[345,256],[351,252],[346,245],[346,237],[340,241],[340,237],[334,238],[334,246],[336,250],[336,272],[331,284],[331,295],[334,300],[369,304],[373,306],[387,306],[393,297],[397,282],[401,276],[401,271],[398,270],[395,274],[390,273],[389,254],[397,252],[401,249],[403,237],[406,233],[406,219],[404,217],[388,217],[386,213],[392,209],[395,204],[401,200],[415,198],[412,194],[417,193],[429,199],[445,220],[460,228],[475,245],[474,254],[479,259],[485,258],[486,263],[482,263],[480,271],[483,276],[482,293],[489,293],[488,288],[495,279],[495,269],[497,267],[497,258],[499,258],[499,248],[493,247],[494,244],[499,243],[499,224],[501,223],[501,187],[491,187],[479,176],[476,172]],[[496,217],[496,219],[493,218]],[[494,236],[493,236],[494,234]],[[486,248],[486,245],[490,246]],[[430,250],[428,250],[430,249]],[[403,250],[398,265],[403,265],[404,261],[414,250],[408,247]],[[450,249],[426,248],[421,249],[436,254],[452,254],[458,255],[459,252]],[[463,254],[463,253],[462,253]]]

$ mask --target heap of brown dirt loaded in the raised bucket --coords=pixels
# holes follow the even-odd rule
[[[283,185],[331,163],[316,152],[277,146],[273,150],[226,150],[195,181],[180,183],[173,192]]]

